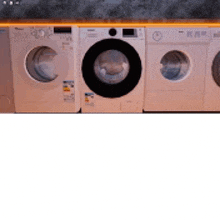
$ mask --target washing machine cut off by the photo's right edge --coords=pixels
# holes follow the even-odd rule
[[[220,28],[210,28],[205,78],[205,111],[220,111]]]

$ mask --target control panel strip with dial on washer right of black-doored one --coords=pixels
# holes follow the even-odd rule
[[[208,43],[209,28],[147,28],[147,43]]]

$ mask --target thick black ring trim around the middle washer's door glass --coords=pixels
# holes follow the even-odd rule
[[[96,58],[106,50],[118,50],[123,53],[130,65],[127,77],[120,83],[107,84],[102,82],[95,74],[94,63]],[[94,44],[84,56],[82,74],[87,86],[96,94],[117,98],[131,92],[141,78],[142,65],[137,51],[127,42],[119,39],[104,39]]]

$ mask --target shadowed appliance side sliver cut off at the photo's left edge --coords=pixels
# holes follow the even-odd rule
[[[15,112],[9,27],[0,27],[0,113]]]

